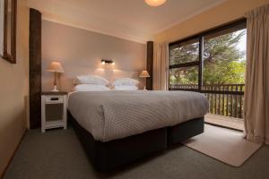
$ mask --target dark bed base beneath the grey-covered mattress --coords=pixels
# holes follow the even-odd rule
[[[162,151],[168,144],[184,141],[204,131],[204,118],[199,118],[188,121],[182,126],[178,124],[124,139],[101,142],[95,141],[91,133],[82,128],[69,112],[68,120],[73,124],[74,131],[91,159],[92,165],[100,172],[108,172],[138,158]]]

